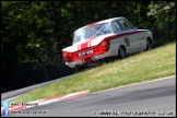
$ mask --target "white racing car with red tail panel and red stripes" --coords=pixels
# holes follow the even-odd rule
[[[70,68],[82,69],[90,63],[149,50],[153,46],[152,32],[138,30],[126,17],[113,17],[83,26],[74,32],[72,46],[62,49]]]

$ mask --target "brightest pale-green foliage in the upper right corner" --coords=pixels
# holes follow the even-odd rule
[[[149,5],[148,16],[154,17],[156,39],[167,43],[176,39],[176,1],[157,1]]]

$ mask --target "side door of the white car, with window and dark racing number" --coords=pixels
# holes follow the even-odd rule
[[[138,36],[137,30],[133,28],[130,22],[126,19],[119,19],[118,20],[120,27],[122,28],[122,32],[127,34],[125,36],[125,42],[130,45],[129,51],[135,51],[140,48],[141,42]]]

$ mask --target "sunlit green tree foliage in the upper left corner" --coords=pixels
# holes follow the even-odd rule
[[[43,8],[42,8],[43,7]],[[17,61],[34,61],[34,52],[40,51],[47,45],[44,39],[50,32],[46,30],[49,27],[50,21],[47,15],[38,15],[46,12],[44,2],[19,2],[19,1],[3,1],[2,9],[7,15],[1,19],[5,25],[3,27],[1,48],[9,54],[7,45],[14,45]],[[47,34],[48,33],[48,34]],[[8,42],[9,44],[4,44]],[[11,47],[12,48],[12,47]],[[3,57],[5,58],[5,57]]]

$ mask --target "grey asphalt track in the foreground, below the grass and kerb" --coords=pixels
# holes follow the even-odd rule
[[[90,93],[73,99],[27,108],[21,110],[21,115],[10,116],[174,117],[176,116],[176,76]]]

